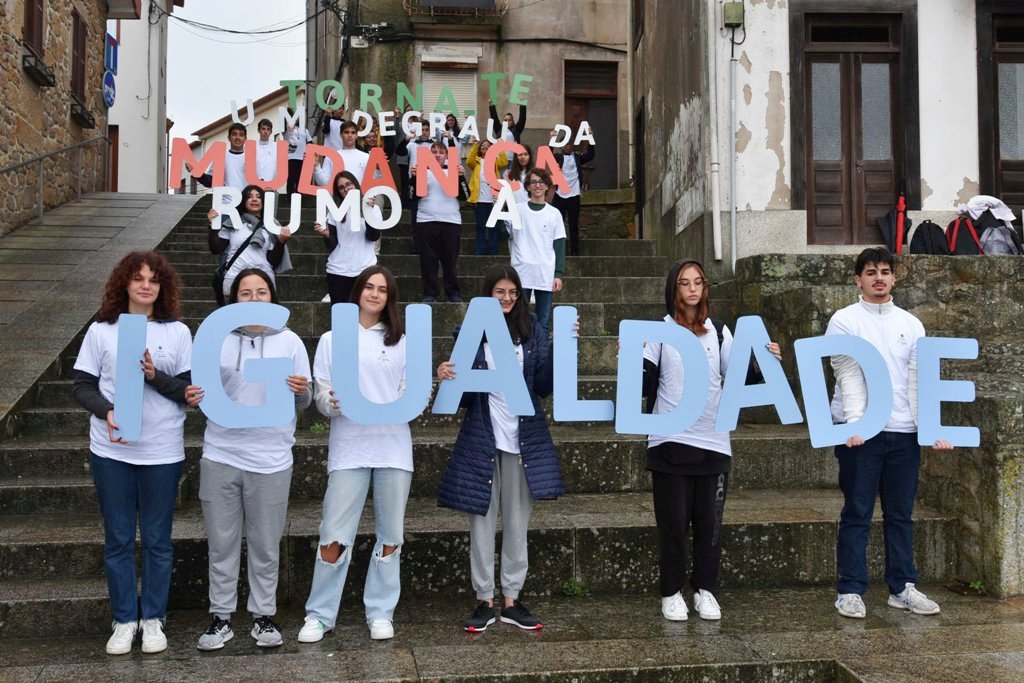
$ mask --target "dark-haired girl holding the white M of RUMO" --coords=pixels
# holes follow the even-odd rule
[[[342,171],[334,178],[334,203],[341,206],[345,196],[350,190],[359,190],[359,181],[355,175]],[[376,212],[380,219],[380,209],[364,203],[359,208],[361,214],[368,211]],[[359,215],[355,219],[355,229],[348,220],[348,215],[340,221],[335,221],[328,214],[327,226],[313,224],[313,231],[324,238],[329,254],[327,257],[327,291],[331,304],[345,303],[352,293],[352,285],[360,272],[377,263],[375,244],[381,239],[378,229],[370,227]]]

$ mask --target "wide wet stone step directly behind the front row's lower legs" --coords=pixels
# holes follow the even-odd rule
[[[835,490],[735,490],[723,522],[721,586],[826,586],[835,580],[835,538],[842,495]],[[876,510],[868,549],[870,575],[882,574],[881,512]],[[309,581],[321,520],[319,501],[291,501],[282,541],[279,597],[301,604]],[[914,513],[919,571],[931,580],[953,572],[955,522],[919,506]],[[373,545],[373,506],[364,511],[348,586],[357,604]],[[412,499],[402,547],[402,595],[456,594],[469,586],[466,515],[438,508],[433,499]],[[46,578],[53,595],[66,580],[102,573],[102,524],[96,514],[25,515],[4,518],[0,577],[6,601],[14,585]],[[171,608],[202,608],[207,601],[207,543],[198,503],[175,513],[175,566]],[[595,595],[655,590],[657,535],[647,493],[570,495],[539,502],[530,521],[531,595],[554,595],[568,579]],[[242,566],[245,566],[243,560]],[[244,603],[243,603],[244,604]],[[103,606],[103,612],[106,607]],[[3,601],[0,601],[3,613]],[[0,638],[10,635],[0,621]],[[14,631],[16,633],[16,630]]]

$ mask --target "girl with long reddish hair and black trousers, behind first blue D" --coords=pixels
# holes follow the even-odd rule
[[[722,557],[722,514],[732,465],[729,432],[715,431],[722,382],[729,368],[732,333],[721,321],[709,316],[708,276],[699,261],[683,259],[669,270],[665,284],[668,324],[681,325],[705,347],[708,358],[708,402],[691,427],[671,436],[647,437],[647,469],[651,472],[654,518],[660,541],[662,614],[673,622],[688,615],[682,589],[686,574],[686,536],[693,526],[693,607],[705,620],[719,620],[715,599]],[[778,344],[768,350],[781,358]],[[748,377],[748,383],[756,381]],[[644,394],[648,410],[670,413],[683,391],[683,362],[672,346],[647,343],[644,347]]]

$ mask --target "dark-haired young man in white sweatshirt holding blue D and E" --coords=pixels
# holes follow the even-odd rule
[[[826,335],[854,335],[869,342],[885,358],[893,387],[893,408],[885,428],[870,438],[851,436],[836,446],[839,485],[844,505],[836,543],[839,572],[836,609],[843,616],[863,618],[861,596],[867,590],[867,537],[876,498],[882,498],[886,548],[885,580],[890,607],[915,614],[937,614],[939,605],[914,585],[913,501],[918,495],[921,446],[918,445],[918,340],[925,327],[893,303],[896,284],[893,256],[886,249],[865,249],[857,257],[854,282],[860,300],[836,311]],[[867,387],[860,367],[846,355],[833,356],[836,395],[833,420],[859,420],[867,405]],[[937,451],[952,446],[936,441]]]

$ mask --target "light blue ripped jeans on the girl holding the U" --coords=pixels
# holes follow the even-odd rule
[[[313,585],[306,600],[306,616],[313,616],[324,626],[333,629],[341,606],[341,594],[352,560],[352,545],[362,516],[362,508],[374,485],[374,520],[376,522],[374,552],[362,589],[362,603],[367,608],[367,623],[374,620],[391,621],[401,581],[398,573],[406,519],[406,503],[413,473],[394,468],[361,467],[335,470],[328,476],[324,495],[324,519],[321,521],[316,561],[313,564]],[[338,543],[342,546],[337,562],[325,561],[325,546]],[[384,555],[384,546],[394,546],[390,555]]]

